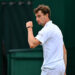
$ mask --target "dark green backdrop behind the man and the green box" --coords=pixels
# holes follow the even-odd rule
[[[34,36],[42,28],[33,13],[39,4],[50,6],[51,20],[62,30],[68,52],[67,75],[75,74],[74,0],[0,0],[0,75],[7,73],[7,55],[11,49],[29,49],[25,23],[33,21]]]

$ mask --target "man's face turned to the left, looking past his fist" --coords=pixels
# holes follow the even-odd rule
[[[37,23],[38,23],[39,25],[44,26],[45,23],[46,23],[46,19],[47,19],[47,17],[48,17],[48,14],[44,15],[44,14],[41,12],[41,10],[40,10],[40,11],[38,11],[38,12],[35,14],[35,16],[36,16],[36,21],[37,21]]]

